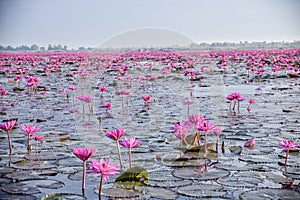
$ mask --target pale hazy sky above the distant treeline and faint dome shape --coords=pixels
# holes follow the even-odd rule
[[[299,0],[0,0],[0,45],[97,47],[155,27],[196,42],[300,40]]]

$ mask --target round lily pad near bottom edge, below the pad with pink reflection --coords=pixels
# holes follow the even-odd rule
[[[195,198],[221,198],[227,191],[218,185],[194,184],[178,188],[178,193]]]

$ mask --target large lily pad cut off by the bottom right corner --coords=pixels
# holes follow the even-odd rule
[[[253,199],[253,200],[265,200],[265,199],[286,199],[295,200],[300,199],[300,193],[293,190],[284,189],[259,189],[243,192],[240,195],[240,199]]]

